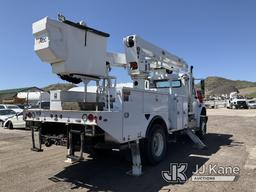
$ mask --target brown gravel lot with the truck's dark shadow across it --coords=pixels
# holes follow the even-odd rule
[[[27,130],[0,128],[0,191],[256,191],[256,110],[208,110],[207,149],[198,150],[187,139],[169,144],[159,165],[143,167],[143,175],[125,174],[130,163],[119,153],[77,164],[64,163],[66,149],[44,147],[32,152]],[[188,163],[184,184],[166,182],[161,172],[170,163]],[[194,182],[192,172],[210,164],[239,166],[234,182]]]

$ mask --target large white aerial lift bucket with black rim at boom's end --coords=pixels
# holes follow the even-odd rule
[[[34,50],[58,75],[105,76],[109,34],[83,23],[45,17],[33,23]]]

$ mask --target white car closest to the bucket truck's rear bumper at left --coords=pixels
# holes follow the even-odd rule
[[[23,120],[23,112],[8,118],[4,123],[3,127],[12,128],[26,128],[26,122]]]

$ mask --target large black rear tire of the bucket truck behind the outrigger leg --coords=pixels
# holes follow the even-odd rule
[[[164,127],[161,124],[153,124],[142,149],[143,158],[147,163],[156,165],[164,159],[167,152],[166,138]]]

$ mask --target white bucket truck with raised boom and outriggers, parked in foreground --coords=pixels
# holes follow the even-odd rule
[[[206,134],[206,108],[196,97],[193,67],[182,58],[138,35],[124,37],[124,53],[108,53],[109,34],[62,15],[33,23],[33,35],[39,58],[60,78],[82,82],[84,92],[51,91],[50,109],[26,111],[32,150],[42,151],[42,144],[66,146],[67,161],[74,162],[83,160],[84,152],[130,148],[131,173],[140,175],[141,158],[159,163],[176,134],[205,147],[200,138]],[[125,68],[133,87],[116,87],[111,67]],[[91,82],[95,92],[87,91]],[[203,80],[201,86],[203,91]],[[70,102],[80,108],[67,108]]]

